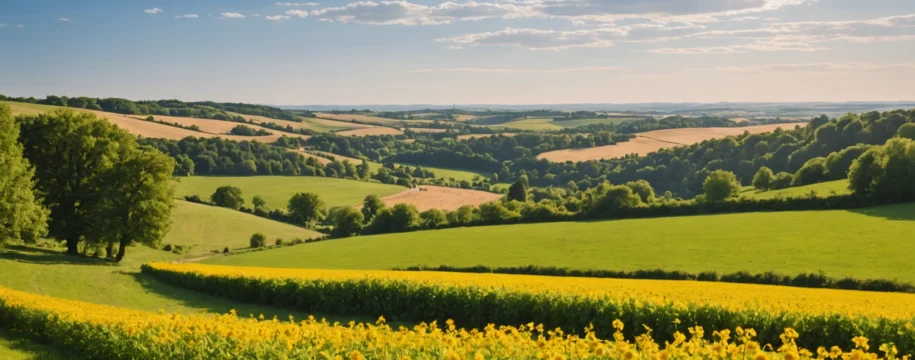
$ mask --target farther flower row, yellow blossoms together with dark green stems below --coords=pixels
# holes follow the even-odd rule
[[[785,328],[799,345],[844,344],[865,336],[915,351],[915,295],[777,286],[588,279],[498,274],[244,268],[148,264],[170,283],[239,301],[304,312],[385,315],[397,320],[454,319],[462,327],[543,323],[601,337],[621,319],[633,339],[653,329],[672,341],[684,326],[756,329],[775,344]]]

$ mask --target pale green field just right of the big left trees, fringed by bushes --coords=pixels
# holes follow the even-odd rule
[[[175,195],[208,199],[223,185],[240,188],[248,206],[254,195],[260,195],[270,208],[284,208],[289,198],[300,192],[318,194],[327,206],[342,206],[361,203],[369,194],[384,197],[406,190],[397,185],[316,176],[192,176],[178,179]]]

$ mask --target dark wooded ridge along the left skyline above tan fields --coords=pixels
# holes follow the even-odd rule
[[[214,120],[232,120],[237,116],[230,115],[228,112],[233,112],[280,120],[299,121],[295,114],[287,110],[271,106],[242,103],[217,103],[213,101],[183,102],[181,100],[133,101],[121,98],[92,98],[85,96],[66,97],[55,95],[48,95],[44,99],[36,99],[34,97],[7,97],[0,95],[0,100],[66,106],[127,115],[166,115]],[[299,112],[299,116],[314,117],[314,114],[302,111]]]

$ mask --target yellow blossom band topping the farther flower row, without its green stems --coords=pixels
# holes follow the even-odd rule
[[[447,272],[310,270],[233,267],[201,264],[151,266],[169,271],[207,276],[304,280],[396,280],[416,284],[478,287],[490,291],[518,290],[528,293],[560,293],[604,299],[680,306],[711,305],[728,310],[758,309],[810,315],[850,315],[910,320],[915,318],[915,294],[852,290],[809,289],[787,286],[733,284],[675,280],[596,279],[504,274]]]

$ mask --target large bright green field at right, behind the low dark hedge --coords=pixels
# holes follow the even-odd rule
[[[410,265],[560,266],[831,276],[915,282],[915,204],[470,227],[318,242],[214,258],[225,265],[390,269]]]

